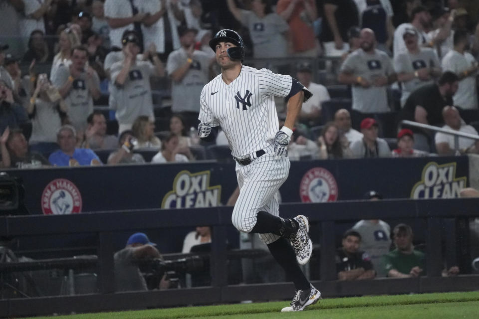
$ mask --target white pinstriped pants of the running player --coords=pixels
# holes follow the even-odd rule
[[[279,216],[276,192],[288,178],[290,166],[288,158],[280,157],[276,160],[274,154],[265,154],[249,165],[236,164],[240,196],[233,209],[231,220],[238,230],[249,233],[256,224],[259,211]],[[266,245],[279,238],[271,233],[258,235]]]

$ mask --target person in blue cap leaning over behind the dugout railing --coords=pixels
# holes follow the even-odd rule
[[[160,258],[156,244],[150,242],[144,233],[134,233],[128,238],[126,247],[113,256],[115,267],[116,291],[148,290],[145,278],[138,267],[142,259]],[[159,288],[167,289],[170,282],[163,276]]]

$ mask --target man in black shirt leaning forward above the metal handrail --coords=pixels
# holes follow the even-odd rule
[[[450,71],[444,72],[437,83],[426,84],[411,93],[401,112],[401,120],[409,120],[422,124],[442,126],[444,124],[442,110],[445,106],[453,106],[453,95],[458,90],[459,78]],[[414,132],[414,148],[431,152],[432,133],[412,128]]]

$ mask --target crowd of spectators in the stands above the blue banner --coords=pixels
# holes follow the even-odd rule
[[[194,152],[208,146],[195,138],[199,95],[219,71],[208,41],[226,27],[240,31],[246,58],[262,59],[257,66],[294,58],[287,70],[313,92],[298,118],[291,160],[479,151],[473,140],[461,138],[457,148],[450,135],[400,123],[477,134],[476,1],[217,4],[1,0],[0,19],[8,22],[0,28],[2,137],[21,129],[29,151],[49,158],[63,152],[60,128],[71,125],[76,150],[98,152],[103,164],[143,162],[138,152],[145,150],[156,152],[146,161],[204,159]],[[321,57],[340,65],[334,71]],[[321,70],[337,78],[320,79]],[[2,151],[12,158],[6,140]],[[226,148],[224,140],[220,134]]]

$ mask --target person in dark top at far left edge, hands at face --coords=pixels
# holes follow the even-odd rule
[[[0,80],[0,134],[10,127],[17,128],[28,122],[25,109],[14,103],[13,93],[5,81]]]

